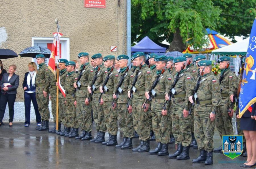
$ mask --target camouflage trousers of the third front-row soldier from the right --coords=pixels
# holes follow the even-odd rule
[[[168,144],[170,141],[170,114],[161,114],[162,108],[151,108],[152,127],[155,133],[156,142]]]

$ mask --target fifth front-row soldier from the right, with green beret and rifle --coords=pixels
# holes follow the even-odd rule
[[[130,99],[130,105],[127,108],[127,93],[129,90],[129,85],[132,83],[133,80],[133,73],[131,70],[128,70],[128,72],[125,72],[128,64],[129,57],[126,55],[119,55],[117,57],[117,60],[119,61],[119,67],[120,72],[117,78],[115,78],[115,87],[114,91],[117,91],[117,87],[119,84],[119,81],[121,80],[121,77],[124,75],[124,81],[122,85],[120,86],[120,89],[122,89],[122,93],[118,93],[117,95],[114,93],[113,98],[117,98],[117,112],[118,112],[118,121],[119,121],[119,127],[120,130],[123,133],[123,141],[116,145],[116,148],[121,149],[130,149],[133,147],[132,141],[134,137],[134,128],[133,128],[133,115],[132,115],[132,99]]]

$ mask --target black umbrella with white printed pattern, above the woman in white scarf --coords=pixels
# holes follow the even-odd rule
[[[51,51],[43,46],[32,46],[24,49],[19,53],[21,57],[35,58],[36,55],[43,54],[46,58],[50,58]]]

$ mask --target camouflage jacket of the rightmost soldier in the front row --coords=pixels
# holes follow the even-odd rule
[[[198,78],[197,78],[198,80]],[[196,111],[217,112],[221,103],[220,83],[216,76],[212,73],[203,75],[200,86],[197,91],[198,101],[211,101],[211,103],[197,104],[195,103]]]

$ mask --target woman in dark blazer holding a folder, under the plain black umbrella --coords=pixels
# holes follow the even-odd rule
[[[15,74],[17,66],[12,64],[9,66],[9,73],[5,73],[0,82],[1,86],[1,102],[0,102],[0,126],[5,114],[6,104],[9,107],[9,126],[12,127],[14,115],[14,102],[16,99],[17,88],[19,87],[19,76]]]

